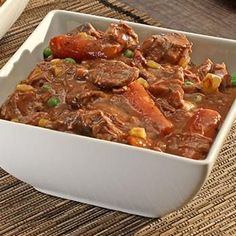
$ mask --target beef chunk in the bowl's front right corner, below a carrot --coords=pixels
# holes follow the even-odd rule
[[[178,156],[184,156],[191,159],[204,159],[212,139],[200,134],[173,133],[168,137],[166,151]]]

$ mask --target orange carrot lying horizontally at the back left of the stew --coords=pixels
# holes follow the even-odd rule
[[[54,56],[71,57],[79,61],[92,58],[113,58],[123,47],[108,39],[91,39],[81,36],[60,35],[50,40]]]

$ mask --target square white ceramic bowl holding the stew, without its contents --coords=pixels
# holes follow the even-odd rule
[[[105,29],[115,19],[50,12],[0,71],[0,104],[25,79],[54,35],[84,22]],[[169,29],[129,22],[143,39]],[[236,41],[185,33],[193,61],[210,57],[236,68]],[[158,217],[186,204],[209,175],[236,117],[236,102],[205,160],[191,160],[79,135],[0,120],[0,166],[39,191],[105,208]]]

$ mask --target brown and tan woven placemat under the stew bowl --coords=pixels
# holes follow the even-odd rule
[[[32,0],[0,41],[0,68],[53,9],[158,25],[115,0]],[[198,195],[182,209],[160,219],[48,196],[0,169],[0,235],[236,235],[235,189],[236,124]]]

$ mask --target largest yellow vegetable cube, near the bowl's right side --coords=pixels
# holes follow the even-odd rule
[[[205,78],[202,80],[202,87],[205,92],[216,92],[220,86],[222,78],[218,75],[207,73]]]

